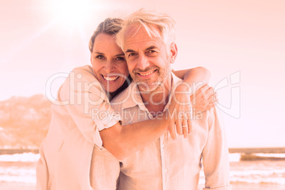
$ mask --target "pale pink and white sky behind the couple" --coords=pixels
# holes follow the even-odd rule
[[[55,96],[74,67],[90,64],[96,26],[140,8],[177,22],[173,69],[211,71],[229,147],[285,147],[283,0],[1,0],[0,101]]]

